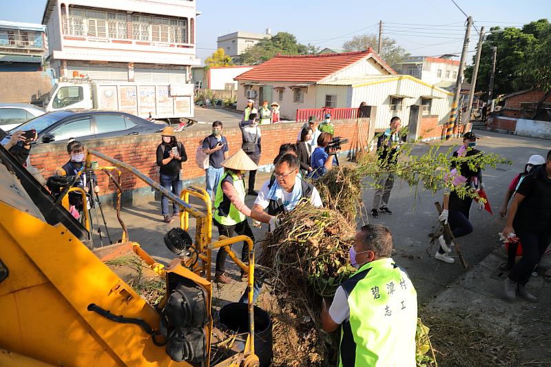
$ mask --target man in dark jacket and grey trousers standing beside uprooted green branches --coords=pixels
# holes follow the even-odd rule
[[[373,209],[371,209],[373,218],[379,218],[379,212],[392,214],[391,209],[388,209],[388,200],[391,198],[394,187],[394,174],[390,169],[398,162],[400,146],[406,141],[406,134],[402,134],[400,127],[402,127],[402,120],[394,116],[391,118],[391,127],[377,138],[377,159],[382,172],[373,197]]]

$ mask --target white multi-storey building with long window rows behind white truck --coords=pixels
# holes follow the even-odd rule
[[[196,1],[48,0],[56,77],[187,83],[196,59]]]

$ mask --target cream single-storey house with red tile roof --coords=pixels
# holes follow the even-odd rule
[[[376,129],[393,116],[409,120],[410,105],[446,122],[451,94],[409,75],[397,75],[373,49],[340,54],[278,55],[236,76],[238,110],[247,100],[280,104],[282,118],[295,120],[297,109],[377,106]],[[448,101],[449,100],[449,101]],[[407,125],[405,123],[404,125]]]

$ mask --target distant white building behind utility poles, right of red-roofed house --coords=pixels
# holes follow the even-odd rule
[[[415,76],[422,81],[448,89],[455,87],[459,61],[444,55],[441,57],[413,56],[403,63],[401,74]]]

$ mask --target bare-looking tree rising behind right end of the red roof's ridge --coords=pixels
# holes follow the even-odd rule
[[[370,47],[373,48],[373,50],[377,50],[378,43],[379,36],[377,36],[377,34],[363,34],[361,36],[354,36],[350,41],[346,41],[342,45],[342,48],[348,52],[364,51]],[[401,61],[404,61],[404,59],[410,56],[404,48],[396,44],[394,39],[382,37],[381,43],[380,56],[388,65],[391,65],[393,69],[396,69]]]

